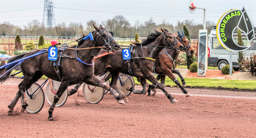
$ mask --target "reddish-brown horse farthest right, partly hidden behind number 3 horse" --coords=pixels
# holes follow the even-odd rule
[[[194,49],[191,46],[189,40],[186,38],[186,36],[184,35],[184,32],[182,31],[182,33],[178,32],[178,40],[183,44],[184,46],[184,50],[185,52],[187,52],[189,55],[194,53]],[[179,52],[177,51],[172,51],[169,49],[163,49],[161,50],[160,55],[158,56],[158,58],[155,60],[155,72],[156,74],[159,74],[156,79],[159,80],[161,79],[161,83],[165,83],[165,76],[167,75],[171,80],[173,80],[175,82],[176,85],[178,85],[180,87],[180,89],[182,90],[183,93],[186,94],[186,97],[190,96],[190,93],[188,93],[185,88],[183,88],[180,84],[180,81],[178,79],[176,79],[176,77],[173,75],[173,73],[178,74],[180,76],[180,79],[182,81],[182,85],[184,87],[186,87],[186,83],[185,83],[185,79],[181,76],[180,72],[178,70],[172,69],[173,64],[175,59],[178,57]],[[155,86],[154,85],[149,85],[149,89],[148,89],[148,96],[150,96],[150,91],[151,89],[153,89],[153,92],[156,93],[156,90],[154,89]]]

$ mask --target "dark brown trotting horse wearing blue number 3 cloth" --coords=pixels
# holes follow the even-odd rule
[[[110,86],[114,89],[116,88],[120,72],[135,77],[145,78],[140,79],[140,83],[145,88],[145,91],[140,92],[140,94],[147,93],[146,79],[148,79],[165,93],[167,98],[170,99],[171,103],[177,102],[177,100],[165,90],[164,86],[158,82],[158,80],[152,74],[154,61],[164,47],[172,50],[183,50],[183,45],[175,38],[175,36],[162,28],[161,30],[162,33],[154,30],[155,32],[149,34],[148,38],[142,43],[134,43],[135,47],[131,51],[132,53],[130,61],[123,60],[122,53],[113,53],[95,59],[94,74],[103,74],[103,69],[109,71],[112,76]],[[104,52],[106,52],[106,50],[101,51],[100,54]],[[106,64],[101,64],[102,62]]]

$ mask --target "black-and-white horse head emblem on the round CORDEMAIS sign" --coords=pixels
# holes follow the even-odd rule
[[[252,39],[254,39],[254,28],[244,7],[241,12],[242,15],[237,27],[245,33],[247,40],[251,41]]]

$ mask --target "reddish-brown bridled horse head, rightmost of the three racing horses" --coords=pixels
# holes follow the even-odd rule
[[[194,54],[194,48],[191,46],[190,41],[188,38],[185,36],[184,32],[182,33],[178,32],[178,39],[180,40],[181,44],[184,46],[183,51],[187,52],[189,55]]]

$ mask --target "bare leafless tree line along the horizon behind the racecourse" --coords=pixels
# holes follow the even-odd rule
[[[134,38],[135,34],[139,34],[139,37],[146,37],[147,34],[153,31],[153,29],[165,28],[169,32],[174,34],[177,31],[183,30],[183,26],[186,25],[190,32],[191,39],[197,39],[199,29],[203,29],[202,23],[197,23],[194,20],[177,21],[177,25],[172,25],[169,22],[163,20],[160,24],[155,23],[154,19],[150,17],[145,22],[137,20],[134,25],[122,15],[116,15],[112,19],[106,21],[97,22],[90,20],[85,23],[71,22],[66,24],[65,22],[57,24],[57,31],[59,36],[82,36],[93,30],[95,30],[92,24],[104,26],[108,31],[112,31],[115,37],[120,38]],[[214,21],[206,21],[206,29],[209,32],[212,30],[212,26],[216,25]],[[47,28],[42,25],[38,20],[33,20],[27,23],[25,26],[15,26],[9,22],[0,23],[0,36],[57,36],[56,28]]]

